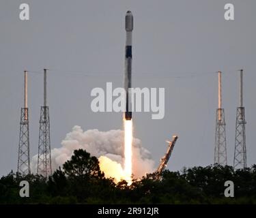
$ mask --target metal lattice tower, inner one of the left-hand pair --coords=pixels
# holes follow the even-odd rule
[[[44,106],[41,106],[38,142],[38,170],[44,177],[52,174],[49,108],[46,106],[46,69],[44,69]]]

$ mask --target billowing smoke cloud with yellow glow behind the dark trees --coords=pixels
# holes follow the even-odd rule
[[[78,125],[72,128],[66,138],[61,142],[61,147],[51,150],[53,171],[62,166],[76,149],[85,149],[91,155],[98,157],[100,169],[106,177],[115,177],[116,181],[124,178],[124,131],[113,129],[99,131],[89,129],[83,131]],[[132,174],[140,178],[146,173],[154,171],[154,160],[147,149],[141,146],[141,140],[133,138],[132,143]],[[31,170],[36,172],[38,155],[31,160]]]

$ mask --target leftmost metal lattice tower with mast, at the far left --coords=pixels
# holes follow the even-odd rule
[[[29,158],[29,108],[27,108],[27,71],[24,72],[24,108],[20,114],[20,139],[18,143],[18,170],[30,174]]]

